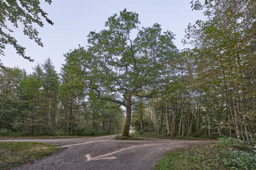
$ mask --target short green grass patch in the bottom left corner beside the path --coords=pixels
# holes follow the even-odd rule
[[[47,149],[40,149],[46,148]],[[0,142],[0,169],[9,169],[53,154],[59,149],[38,142]]]

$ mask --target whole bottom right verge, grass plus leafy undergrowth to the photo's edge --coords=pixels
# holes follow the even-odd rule
[[[256,169],[253,147],[230,146],[225,139],[218,143],[170,151],[156,165],[157,170],[185,169]]]

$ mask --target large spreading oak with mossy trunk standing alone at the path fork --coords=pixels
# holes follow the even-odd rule
[[[169,61],[178,53],[171,31],[162,33],[157,23],[148,28],[139,24],[138,14],[125,9],[108,18],[106,29],[90,32],[88,49],[66,55],[76,75],[83,75],[86,88],[97,91],[102,100],[125,106],[124,136],[130,131],[132,98],[154,95],[165,81]]]

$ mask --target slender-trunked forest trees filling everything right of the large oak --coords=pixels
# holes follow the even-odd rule
[[[256,3],[191,2],[206,21],[188,25],[161,97],[137,99],[137,131],[170,135],[256,137]],[[231,141],[232,142],[232,141]]]

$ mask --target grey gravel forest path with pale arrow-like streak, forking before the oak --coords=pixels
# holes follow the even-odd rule
[[[49,157],[12,169],[154,169],[167,151],[202,145],[206,140],[115,140],[115,135],[76,139],[31,139],[4,141],[35,141],[66,146]]]

